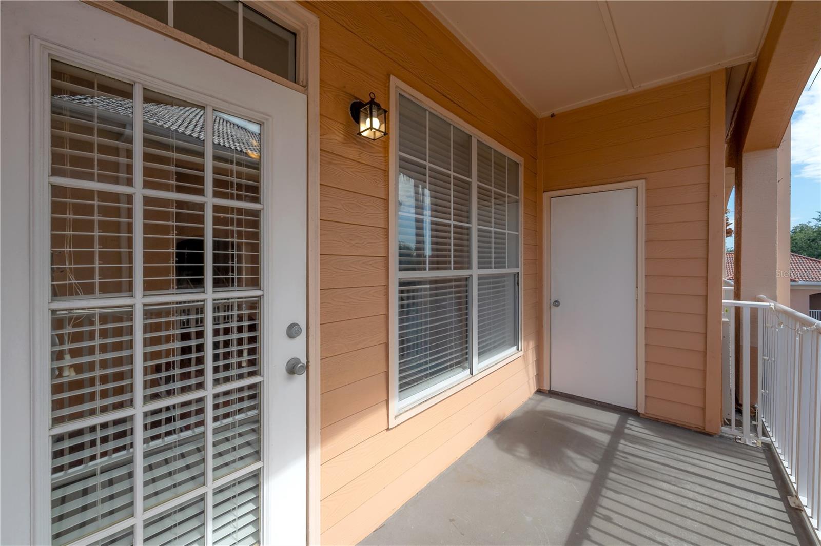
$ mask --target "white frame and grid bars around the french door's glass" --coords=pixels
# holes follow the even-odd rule
[[[204,196],[189,195],[184,193],[168,193],[162,190],[148,190],[137,187],[137,180],[140,178],[136,174],[136,170],[142,168],[141,162],[137,162],[136,158],[142,156],[142,133],[143,124],[141,116],[138,117],[137,109],[135,108],[134,116],[134,138],[133,138],[133,157],[135,158],[135,173],[134,183],[131,186],[119,186],[117,184],[105,184],[93,181],[72,180],[60,177],[53,177],[48,175],[51,166],[51,84],[50,82],[50,67],[51,61],[62,61],[72,66],[79,66],[85,70],[94,71],[102,75],[106,75],[117,80],[122,80],[127,83],[134,84],[133,101],[135,104],[142,101],[142,89],[149,87],[152,91],[164,93],[172,97],[184,98],[190,102],[206,105],[206,116],[209,116],[214,109],[219,111],[230,112],[232,115],[241,116],[248,120],[257,121],[262,125],[262,139],[263,142],[271,142],[273,139],[273,119],[263,112],[250,110],[247,107],[227,102],[220,98],[212,97],[204,93],[199,93],[195,90],[185,87],[177,86],[168,83],[164,80],[158,80],[150,75],[142,74],[138,71],[133,71],[122,66],[112,65],[106,61],[99,60],[96,57],[91,57],[80,52],[76,52],[70,48],[57,45],[55,43],[48,43],[41,39],[32,39],[32,184],[31,184],[31,229],[32,229],[32,254],[31,275],[32,275],[32,362],[50,362],[51,354],[51,312],[55,309],[73,309],[94,307],[104,309],[106,307],[114,307],[117,305],[133,306],[134,313],[134,339],[133,339],[133,353],[134,353],[134,373],[133,373],[133,401],[131,408],[125,408],[113,412],[107,412],[96,416],[78,419],[62,425],[50,425],[51,417],[51,382],[48,375],[48,370],[45,366],[33,366],[32,370],[32,415],[33,415],[33,510],[32,518],[34,521],[34,544],[51,544],[52,522],[51,522],[51,435],[57,434],[56,431],[61,430],[76,430],[82,426],[93,425],[97,423],[104,423],[113,421],[123,416],[132,416],[132,443],[134,446],[134,515],[130,518],[120,521],[117,524],[108,526],[103,530],[95,531],[90,535],[78,539],[71,543],[71,546],[81,546],[83,544],[93,543],[95,540],[103,539],[116,535],[122,530],[126,530],[131,526],[135,528],[135,544],[141,544],[141,528],[142,526],[135,526],[138,521],[148,520],[150,517],[158,513],[164,512],[172,506],[179,506],[186,503],[192,498],[204,497],[205,500],[205,530],[206,539],[208,540],[211,533],[211,526],[213,519],[212,512],[212,494],[215,489],[222,485],[232,483],[241,478],[260,471],[260,498],[262,505],[273,505],[268,501],[273,492],[270,491],[270,486],[266,485],[272,481],[273,471],[271,464],[268,461],[271,453],[276,449],[276,434],[271,429],[271,420],[266,419],[266,414],[269,411],[266,400],[273,399],[274,396],[274,381],[270,379],[270,372],[268,368],[272,366],[272,350],[270,343],[262,343],[259,357],[262,360],[262,367],[260,374],[253,378],[245,378],[244,380],[233,381],[232,383],[213,385],[212,381],[212,366],[213,353],[211,351],[211,338],[213,334],[212,328],[205,328],[204,331],[204,347],[205,350],[205,386],[203,390],[194,391],[193,393],[185,393],[169,398],[167,402],[163,403],[149,403],[143,401],[143,333],[142,333],[142,313],[144,303],[174,303],[180,301],[202,301],[204,303],[204,313],[206,323],[210,324],[210,316],[213,311],[213,300],[233,299],[233,298],[262,298],[264,294],[270,294],[272,286],[268,282],[268,271],[273,267],[271,260],[272,252],[270,251],[270,241],[266,234],[273,233],[273,214],[262,214],[260,219],[260,250],[263,254],[260,261],[260,287],[259,289],[246,290],[218,290],[214,291],[205,289],[201,293],[166,293],[159,295],[142,295],[142,198],[138,196],[159,197],[159,198],[176,198],[189,202],[202,202],[205,204],[204,215],[204,248],[210,248],[212,229],[213,229],[213,214],[212,204],[225,205],[229,204],[235,207],[251,208],[262,211],[273,210],[273,192],[266,191],[264,184],[266,181],[270,183],[273,180],[273,166],[270,159],[262,158],[260,162],[260,196],[259,203],[254,202],[234,202],[227,201],[220,198],[209,198],[210,188],[210,171],[212,169],[212,148],[209,146],[210,142],[210,125],[205,124],[205,144],[204,144]],[[140,109],[141,112],[141,109]],[[49,251],[51,248],[49,238],[51,234],[50,221],[50,186],[52,183],[58,185],[66,185],[74,188],[94,189],[99,191],[108,191],[112,193],[128,193],[134,196],[132,202],[132,222],[133,222],[133,295],[130,297],[91,297],[86,299],[67,299],[49,302],[49,295],[51,293],[51,267]],[[206,255],[209,256],[209,255]],[[210,258],[206,257],[204,262],[204,275],[208,278],[211,275]],[[260,331],[264,330],[264,324],[272,323],[271,310],[273,307],[266,303],[265,299],[259,308],[259,323]],[[263,335],[263,334],[261,334]],[[238,389],[248,384],[259,384],[259,400],[260,400],[260,434],[261,438],[261,458],[259,462],[252,463],[244,468],[234,471],[229,475],[222,476],[219,479],[213,479],[211,476],[212,462],[209,457],[212,456],[213,446],[211,442],[211,430],[213,424],[209,422],[212,416],[211,395],[215,392],[225,392],[231,389]],[[166,501],[152,507],[143,512],[143,483],[142,483],[142,453],[144,448],[143,442],[143,414],[147,409],[158,406],[167,406],[175,403],[185,402],[191,399],[204,399],[205,403],[205,462],[206,462],[206,483],[196,489],[193,489],[185,494],[181,494],[172,500]],[[137,447],[140,447],[138,450]],[[139,453],[139,456],[138,456]],[[142,513],[140,513],[142,512]],[[260,507],[259,516],[262,521],[261,535],[262,543],[270,541],[270,537],[266,535],[273,529],[270,521],[269,511]]]

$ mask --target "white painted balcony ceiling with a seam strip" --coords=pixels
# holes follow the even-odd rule
[[[537,116],[751,61],[773,4],[425,2]]]

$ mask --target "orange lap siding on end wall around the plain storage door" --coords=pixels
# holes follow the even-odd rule
[[[704,428],[710,80],[545,118],[545,190],[645,184],[645,413]]]

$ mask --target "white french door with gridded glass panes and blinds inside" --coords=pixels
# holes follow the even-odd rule
[[[13,16],[34,541],[304,544],[305,95],[80,2]]]

